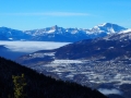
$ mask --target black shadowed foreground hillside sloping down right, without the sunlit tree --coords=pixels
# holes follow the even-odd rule
[[[13,61],[0,58],[0,98],[14,98],[12,75],[25,75],[25,98],[107,98],[75,83],[56,81]]]

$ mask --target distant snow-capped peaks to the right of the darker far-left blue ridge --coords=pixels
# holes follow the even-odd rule
[[[104,23],[94,26],[91,29],[83,28],[63,28],[57,25],[43,29],[25,30],[25,34],[29,34],[33,40],[52,40],[52,41],[79,41],[82,39],[93,39],[97,37],[104,37],[108,34],[118,33],[124,30],[121,27],[111,23]]]

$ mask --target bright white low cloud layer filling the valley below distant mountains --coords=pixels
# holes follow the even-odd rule
[[[56,49],[69,42],[53,41],[0,41],[0,45],[5,46],[11,51],[17,52],[34,52],[37,50]]]

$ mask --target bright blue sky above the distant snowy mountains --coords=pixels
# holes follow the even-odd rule
[[[131,28],[130,10],[131,0],[0,0],[0,26],[92,28],[108,22]]]

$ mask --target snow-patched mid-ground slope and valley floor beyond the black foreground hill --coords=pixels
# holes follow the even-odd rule
[[[115,89],[115,95],[124,98],[131,96],[130,29],[84,39],[53,50],[36,51],[20,57],[16,62],[55,78],[97,89]]]

